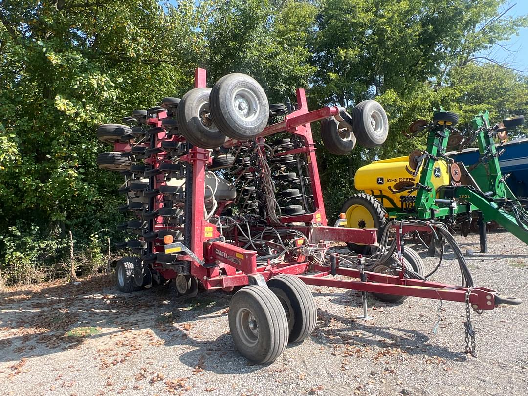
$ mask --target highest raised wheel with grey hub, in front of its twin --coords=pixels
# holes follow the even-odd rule
[[[268,124],[266,92],[246,74],[232,73],[216,81],[209,101],[216,126],[232,139],[252,139]]]

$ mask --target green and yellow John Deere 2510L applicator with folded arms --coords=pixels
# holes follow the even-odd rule
[[[432,122],[414,121],[405,135],[426,133],[427,149],[359,168],[354,184],[362,192],[350,196],[341,210],[346,226],[381,233],[388,219],[441,220],[459,225],[467,235],[472,218],[478,216],[481,250],[485,223],[491,221],[528,243],[528,213],[505,183],[507,175],[502,175],[497,159],[501,149],[494,144],[494,138],[502,144],[507,130],[523,122],[523,116],[513,116],[491,125],[489,112],[481,112],[464,137],[456,129],[458,115],[444,109],[433,112]],[[461,150],[475,140],[480,159],[472,167],[446,155],[447,149]]]

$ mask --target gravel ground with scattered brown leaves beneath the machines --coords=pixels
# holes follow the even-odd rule
[[[465,253],[477,252],[466,257],[476,286],[528,301],[522,242],[489,234],[489,253],[481,254],[476,235],[458,240]],[[417,250],[434,268],[436,259]],[[447,254],[433,279],[458,284],[459,276]],[[369,298],[374,319],[365,322],[355,319],[356,291],[310,286],[318,306],[312,336],[272,364],[251,365],[233,349],[229,294],[171,300],[171,288],[125,295],[112,284],[111,276],[97,276],[0,295],[3,394],[527,393],[528,303],[472,315],[473,358],[463,353],[463,304]]]

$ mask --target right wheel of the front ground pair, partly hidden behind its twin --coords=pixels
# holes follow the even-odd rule
[[[293,275],[277,275],[268,287],[279,298],[288,319],[289,343],[302,342],[315,329],[317,306],[305,283]]]

